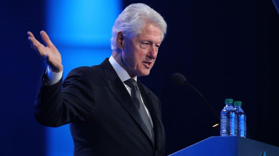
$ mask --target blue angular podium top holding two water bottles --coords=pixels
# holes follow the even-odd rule
[[[170,156],[279,156],[279,147],[239,136],[212,136]]]

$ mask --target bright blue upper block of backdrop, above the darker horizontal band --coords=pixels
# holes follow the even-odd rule
[[[106,46],[120,8],[119,0],[47,0],[48,32],[60,45]]]

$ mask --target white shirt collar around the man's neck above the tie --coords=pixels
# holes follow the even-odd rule
[[[113,58],[113,56],[111,55],[109,58],[109,63],[112,65],[113,69],[115,70],[116,74],[118,75],[118,77],[120,78],[120,80],[122,82],[128,80],[129,78],[131,78],[129,76],[129,74],[127,73],[127,71],[125,69],[123,69]],[[137,76],[135,76],[133,78],[135,81],[137,81]]]

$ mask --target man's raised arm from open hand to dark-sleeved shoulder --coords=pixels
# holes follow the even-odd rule
[[[31,48],[47,63],[39,83],[34,104],[36,120],[51,127],[86,120],[95,111],[95,95],[87,76],[89,67],[72,70],[65,78],[62,90],[62,59],[49,36],[41,31],[41,44],[31,32],[27,32]]]

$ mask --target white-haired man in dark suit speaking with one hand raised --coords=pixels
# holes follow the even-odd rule
[[[44,31],[47,47],[28,32],[48,65],[38,84],[36,120],[51,127],[70,123],[74,155],[165,155],[160,100],[137,76],[149,74],[166,27],[149,6],[129,5],[112,29],[112,56],[73,69],[63,84],[59,51]]]

